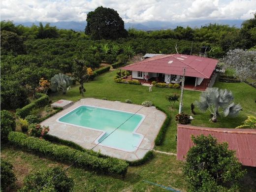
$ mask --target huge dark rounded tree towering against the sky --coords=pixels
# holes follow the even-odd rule
[[[86,21],[85,33],[92,39],[117,39],[128,35],[124,21],[114,9],[97,7],[88,13]]]

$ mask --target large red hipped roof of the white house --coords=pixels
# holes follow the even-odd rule
[[[183,75],[183,69],[185,67],[185,76],[209,79],[217,63],[218,60],[215,59],[173,54],[155,56],[141,62],[121,67],[121,69]]]

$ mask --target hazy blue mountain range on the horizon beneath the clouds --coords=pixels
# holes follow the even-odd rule
[[[198,21],[188,21],[188,22],[167,22],[167,21],[148,21],[142,23],[125,23],[125,28],[135,28],[137,30],[143,31],[151,31],[151,30],[166,30],[166,29],[175,29],[177,26],[182,27],[191,27],[191,28],[200,28],[201,26],[209,25],[210,23],[214,24],[223,24],[229,26],[235,26],[237,28],[241,27],[243,20],[198,20]],[[42,22],[45,25],[48,22]],[[32,24],[39,25],[39,22],[14,22],[14,24],[19,25],[22,24],[24,26],[32,26]],[[74,31],[81,31],[83,32],[86,26],[85,22],[75,22],[75,21],[61,21],[50,23],[51,26],[56,26],[59,29],[72,29]]]

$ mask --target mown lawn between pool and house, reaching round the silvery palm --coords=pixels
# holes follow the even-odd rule
[[[85,97],[79,94],[78,86],[73,87],[66,95],[61,93],[54,93],[50,95],[50,100],[57,101],[59,99],[67,99],[77,101],[81,98],[94,97],[108,100],[119,100],[124,102],[126,99],[131,99],[133,103],[141,104],[145,100],[151,100],[156,106],[164,109],[171,117],[171,125],[167,129],[165,139],[161,146],[156,147],[157,150],[176,153],[176,132],[177,126],[175,124],[175,115],[178,113],[179,103],[176,102],[173,109],[170,109],[170,103],[165,99],[167,94],[178,93],[180,89],[167,89],[153,87],[153,91],[149,92],[148,87],[141,85],[129,85],[114,83],[116,71],[110,71],[99,75],[94,81],[85,84]],[[221,89],[228,89],[233,92],[235,102],[240,103],[243,111],[235,118],[219,117],[217,123],[211,123],[210,113],[202,113],[195,107],[196,115],[193,115],[194,120],[192,125],[202,127],[214,128],[235,128],[247,118],[248,115],[256,115],[256,89],[247,85],[246,83],[223,83],[217,82],[215,87]],[[201,92],[198,91],[184,91],[184,107],[183,111],[187,114],[191,113],[190,105],[195,100],[199,99]]]

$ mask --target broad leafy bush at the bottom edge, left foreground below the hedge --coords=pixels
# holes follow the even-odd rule
[[[57,177],[54,178],[55,176]],[[47,186],[41,189],[46,183],[48,183]],[[24,179],[24,187],[21,189],[21,192],[48,190],[56,192],[70,192],[73,187],[73,179],[68,177],[61,167],[57,166],[29,174]]]

